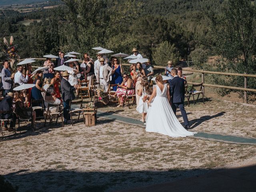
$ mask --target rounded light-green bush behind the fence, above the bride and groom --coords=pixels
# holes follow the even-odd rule
[[[180,54],[174,44],[171,45],[170,42],[164,41],[153,52],[153,59],[160,66],[166,66],[168,60],[172,60],[175,66],[180,60]]]

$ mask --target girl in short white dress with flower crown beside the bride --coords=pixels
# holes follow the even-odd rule
[[[148,78],[146,76],[143,76],[141,78],[141,83],[138,86],[138,96],[139,102],[136,110],[142,114],[142,119],[140,119],[141,122],[145,123],[145,117],[148,112],[148,103],[146,102],[146,98],[150,97],[152,94],[152,87],[148,83]]]

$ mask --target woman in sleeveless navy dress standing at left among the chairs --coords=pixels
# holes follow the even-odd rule
[[[34,79],[34,84],[36,84],[36,86],[32,87],[32,90],[31,90],[31,98],[33,100],[39,100],[39,99],[43,98],[42,93],[41,93],[44,91],[44,89],[42,88],[43,87],[42,76],[43,76],[43,72],[41,70],[38,70],[36,72],[36,76]]]

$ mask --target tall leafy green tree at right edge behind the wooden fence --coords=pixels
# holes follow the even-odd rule
[[[256,73],[256,8],[250,0],[226,1],[222,14],[210,14],[210,32],[214,47],[222,60],[214,67],[217,71],[236,73]],[[233,80],[220,76],[213,78],[214,82],[228,86],[244,86],[243,77]],[[248,79],[248,87],[256,88],[255,78]],[[222,95],[236,90],[220,90]],[[250,94],[252,94],[250,92]]]

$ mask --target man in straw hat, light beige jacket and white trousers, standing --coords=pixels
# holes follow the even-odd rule
[[[97,83],[104,87],[105,92],[108,92],[108,84],[113,69],[109,65],[104,65],[104,58],[100,58],[100,65],[97,66]]]

